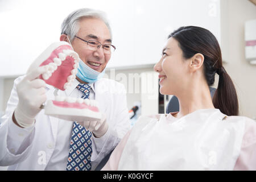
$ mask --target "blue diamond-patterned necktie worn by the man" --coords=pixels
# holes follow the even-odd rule
[[[88,84],[79,84],[77,89],[82,92],[83,99],[89,98],[90,86]],[[90,158],[92,156],[92,133],[74,122],[71,143],[68,154],[67,171],[90,171],[92,165]]]

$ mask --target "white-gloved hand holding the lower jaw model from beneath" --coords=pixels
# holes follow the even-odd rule
[[[81,125],[90,130],[97,138],[102,137],[109,129],[105,114],[102,114],[100,121],[84,121]]]

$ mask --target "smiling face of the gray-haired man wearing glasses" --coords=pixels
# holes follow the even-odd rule
[[[111,44],[110,32],[106,24],[96,18],[84,18],[80,20],[80,29],[77,32],[79,38],[88,40],[97,40],[101,44]],[[97,72],[102,72],[109,62],[111,54],[105,54],[102,46],[96,51],[91,51],[87,43],[74,38],[72,41],[74,51],[79,54],[80,59],[90,68]]]

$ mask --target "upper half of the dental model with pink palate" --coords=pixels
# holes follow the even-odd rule
[[[56,42],[31,64],[28,72],[42,66],[46,66],[47,72],[40,78],[57,89],[65,90],[76,78],[79,55],[67,42]]]

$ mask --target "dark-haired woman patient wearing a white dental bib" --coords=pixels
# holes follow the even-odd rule
[[[236,90],[211,32],[193,26],[172,32],[154,69],[160,93],[177,96],[180,111],[139,118],[103,170],[256,169],[256,123],[236,116]]]

